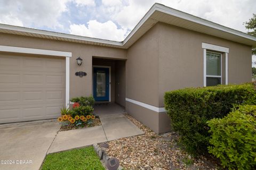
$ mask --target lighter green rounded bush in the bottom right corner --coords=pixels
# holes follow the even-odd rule
[[[229,169],[255,169],[256,106],[245,105],[224,118],[209,121],[209,152]],[[254,168],[253,168],[254,166]]]

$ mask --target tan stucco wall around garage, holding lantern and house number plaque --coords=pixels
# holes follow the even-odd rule
[[[70,98],[92,95],[92,56],[126,59],[125,49],[68,43],[5,33],[0,33],[0,45],[72,52],[73,57],[70,59]],[[81,66],[77,66],[76,63],[78,56],[83,59]],[[86,77],[79,78],[75,76],[77,71],[86,72]]]

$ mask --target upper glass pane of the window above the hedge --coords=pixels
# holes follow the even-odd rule
[[[206,53],[206,75],[221,75],[221,54]]]

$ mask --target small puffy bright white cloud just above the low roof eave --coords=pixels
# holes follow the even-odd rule
[[[104,23],[96,20],[91,20],[85,24],[71,24],[69,32],[73,35],[101,38],[115,41],[124,40],[127,31],[125,29],[118,29],[116,24],[112,21]]]

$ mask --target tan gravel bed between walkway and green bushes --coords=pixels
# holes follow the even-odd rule
[[[181,150],[176,133],[158,135],[132,116],[126,117],[145,134],[110,141],[106,150],[125,169],[220,169],[217,160],[209,155],[194,158]]]

